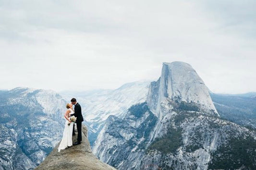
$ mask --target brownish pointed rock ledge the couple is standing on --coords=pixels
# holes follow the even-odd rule
[[[77,139],[73,136],[73,143]],[[35,170],[116,170],[92,154],[87,128],[82,125],[82,143],[58,152],[60,143]]]

